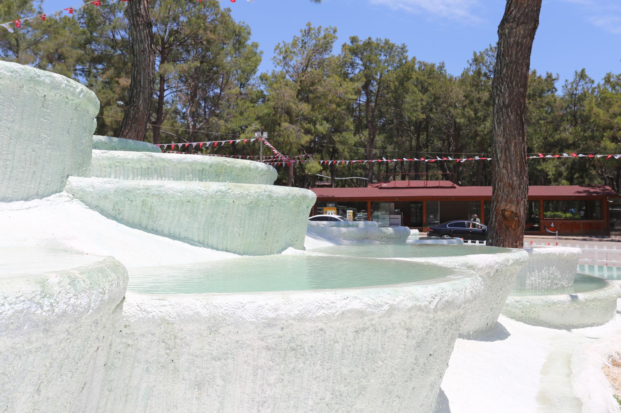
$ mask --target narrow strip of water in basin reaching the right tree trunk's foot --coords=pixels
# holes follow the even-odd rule
[[[374,258],[455,257],[473,254],[498,254],[517,251],[510,248],[433,244],[352,244],[322,247],[312,250],[330,255]]]

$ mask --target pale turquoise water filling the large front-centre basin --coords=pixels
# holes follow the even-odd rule
[[[268,255],[131,269],[127,288],[153,294],[245,293],[437,283],[471,275],[467,270],[449,270],[418,262]]]

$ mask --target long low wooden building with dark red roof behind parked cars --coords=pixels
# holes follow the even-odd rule
[[[447,180],[390,180],[368,187],[311,189],[317,195],[313,215],[336,208],[355,220],[402,224],[427,231],[451,220],[489,220],[492,187],[462,187]],[[331,211],[334,211],[331,209]],[[368,212],[371,211],[369,214]],[[621,198],[605,185],[531,186],[525,234],[621,234]]]

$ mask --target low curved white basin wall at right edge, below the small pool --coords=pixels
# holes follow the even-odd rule
[[[578,293],[509,296],[502,314],[534,326],[560,329],[601,326],[615,316],[619,286],[590,278],[600,280],[604,286]]]

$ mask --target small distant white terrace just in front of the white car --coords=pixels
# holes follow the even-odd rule
[[[407,226],[379,227],[375,221],[308,221],[307,234],[340,243],[396,242],[410,236]]]

